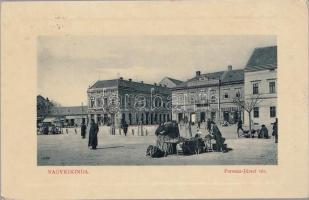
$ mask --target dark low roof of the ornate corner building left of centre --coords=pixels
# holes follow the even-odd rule
[[[112,79],[112,80],[99,80],[90,89],[106,88],[106,87],[117,87],[117,88],[131,88],[140,92],[150,93],[151,88],[155,88],[157,92],[169,94],[169,88],[160,84],[153,85],[144,82],[136,82],[132,80],[124,79]]]

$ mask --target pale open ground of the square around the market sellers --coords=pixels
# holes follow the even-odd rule
[[[237,139],[236,127],[220,127],[226,138],[228,153],[209,152],[199,155],[169,155],[163,158],[145,156],[149,145],[155,144],[155,127],[144,127],[147,136],[110,135],[109,127],[100,127],[98,149],[87,147],[88,139],[82,139],[80,130],[77,134],[69,129],[68,134],[38,135],[38,165],[274,165],[277,164],[277,144],[274,139]],[[193,128],[193,132],[195,128]],[[186,135],[185,128],[180,128],[181,135]],[[271,130],[269,130],[271,131]],[[202,133],[206,131],[202,128]],[[145,135],[145,131],[144,131]],[[87,135],[88,136],[88,135]]]

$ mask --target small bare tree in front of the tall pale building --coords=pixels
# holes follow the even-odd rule
[[[259,103],[262,101],[262,98],[259,94],[253,94],[250,96],[247,96],[245,99],[243,99],[240,95],[238,97],[235,97],[233,99],[233,103],[237,106],[241,107],[244,111],[248,113],[249,116],[249,132],[250,137],[252,137],[252,119],[251,119],[251,112],[254,109],[254,107],[258,106]]]

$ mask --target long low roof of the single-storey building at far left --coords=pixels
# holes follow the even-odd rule
[[[82,115],[86,114],[87,110],[88,106],[53,107],[49,115]]]

